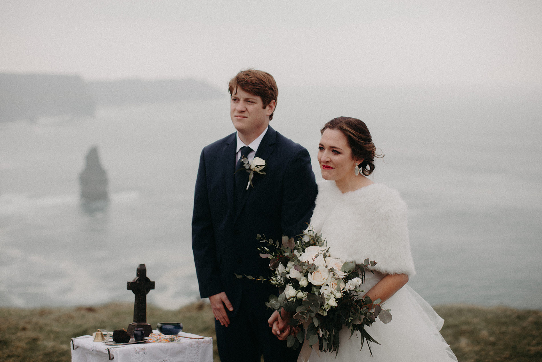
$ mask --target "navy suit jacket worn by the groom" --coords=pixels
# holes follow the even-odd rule
[[[241,298],[267,301],[276,294],[268,282],[235,274],[269,276],[269,259],[260,257],[257,234],[281,240],[306,229],[317,185],[306,148],[269,127],[255,157],[266,174],[255,173],[241,206],[234,210],[236,134],[203,148],[192,216],[192,251],[202,298],[225,292],[235,315]],[[243,171],[240,171],[243,172]]]

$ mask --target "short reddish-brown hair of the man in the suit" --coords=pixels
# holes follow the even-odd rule
[[[241,87],[245,92],[260,96],[263,108],[267,107],[273,100],[276,107],[279,88],[277,88],[275,79],[271,74],[256,69],[241,70],[230,79],[228,85],[230,96],[237,93],[237,87]],[[269,120],[273,119],[273,113],[269,115]]]

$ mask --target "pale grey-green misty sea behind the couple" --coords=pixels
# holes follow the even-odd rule
[[[322,125],[366,122],[384,154],[370,177],[409,205],[409,285],[431,305],[541,310],[540,99],[525,85],[285,87],[271,125],[309,150],[318,180]],[[139,264],[156,283],[147,302],[199,300],[194,183],[202,148],[235,131],[228,105],[224,92],[0,123],[0,306],[130,302]],[[89,207],[93,146],[109,201]]]

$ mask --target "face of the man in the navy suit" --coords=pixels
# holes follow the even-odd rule
[[[241,134],[260,134],[269,125],[269,115],[275,109],[275,101],[263,107],[259,95],[246,92],[237,87],[231,95],[230,117],[235,129]]]

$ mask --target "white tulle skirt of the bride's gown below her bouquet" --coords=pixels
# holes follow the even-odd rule
[[[362,289],[367,292],[384,275],[366,274]],[[379,342],[371,343],[372,356],[364,342],[360,351],[359,333],[350,337],[350,329],[343,328],[339,333],[339,353],[311,352],[309,361],[370,361],[370,362],[440,362],[457,361],[450,346],[442,338],[440,329],[444,320],[412,288],[405,285],[388,299],[383,307],[391,309],[392,320],[383,324],[378,318],[370,327],[365,327],[372,338]]]

